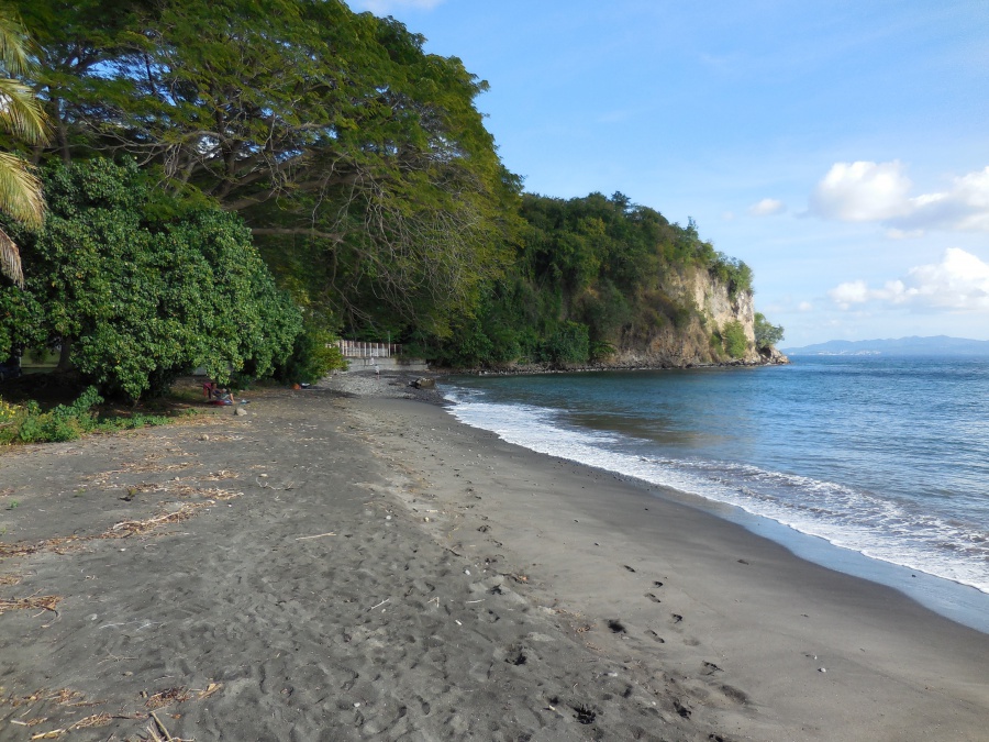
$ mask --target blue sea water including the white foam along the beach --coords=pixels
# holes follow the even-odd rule
[[[989,594],[989,359],[793,361],[457,377],[445,395],[509,442]]]

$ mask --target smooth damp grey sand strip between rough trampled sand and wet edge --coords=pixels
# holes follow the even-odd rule
[[[704,693],[729,731],[766,740],[924,739],[935,729],[935,739],[979,739],[985,732],[976,718],[989,712],[989,635],[899,590],[804,561],[741,524],[677,502],[677,494],[659,499],[652,492],[662,488],[508,444],[446,411],[425,416],[432,451],[448,452],[449,467],[463,456],[460,472],[433,468],[433,484],[442,481],[438,489],[448,491],[473,470],[465,492],[481,491],[481,473],[469,459],[480,451],[475,455],[490,462],[485,486],[499,494],[501,527],[494,530],[486,510],[485,534],[496,533],[488,538],[524,554],[533,573],[540,568],[547,599],[594,616],[596,625],[621,624],[626,646],[640,640],[637,652],[648,653],[651,642],[663,640],[649,649],[685,682],[708,686],[718,676],[721,685]],[[378,429],[376,435],[381,455],[391,447],[408,455],[397,440],[408,432],[396,436]],[[425,465],[424,457],[418,461]],[[499,474],[512,467],[515,474]],[[546,478],[533,478],[541,487],[526,496],[526,477],[540,469]],[[597,491],[589,494],[591,488]],[[464,496],[446,505],[463,509],[469,522],[471,503]],[[463,546],[457,535],[464,530],[451,529],[447,538]],[[710,664],[719,669],[698,673]],[[734,697],[725,687],[743,690],[743,708],[724,708],[731,702],[718,696]],[[956,710],[937,720],[935,707],[949,698]],[[771,722],[749,716],[753,708],[771,709]],[[966,708],[981,710],[971,717],[973,727],[956,727]],[[812,715],[826,723],[808,726]]]

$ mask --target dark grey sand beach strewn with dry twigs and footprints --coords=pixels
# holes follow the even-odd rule
[[[0,454],[0,740],[989,739],[986,634],[332,386]]]

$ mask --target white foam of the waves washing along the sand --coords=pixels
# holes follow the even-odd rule
[[[908,502],[755,466],[646,454],[647,442],[562,424],[548,409],[500,405],[469,389],[447,391],[462,422],[532,451],[742,508],[871,558],[989,594],[989,534]]]

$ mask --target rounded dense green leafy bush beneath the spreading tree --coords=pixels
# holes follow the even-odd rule
[[[158,392],[197,366],[265,375],[301,331],[241,220],[97,159],[45,177],[44,228],[19,233],[26,286],[0,288],[10,344],[58,344],[101,391]]]

